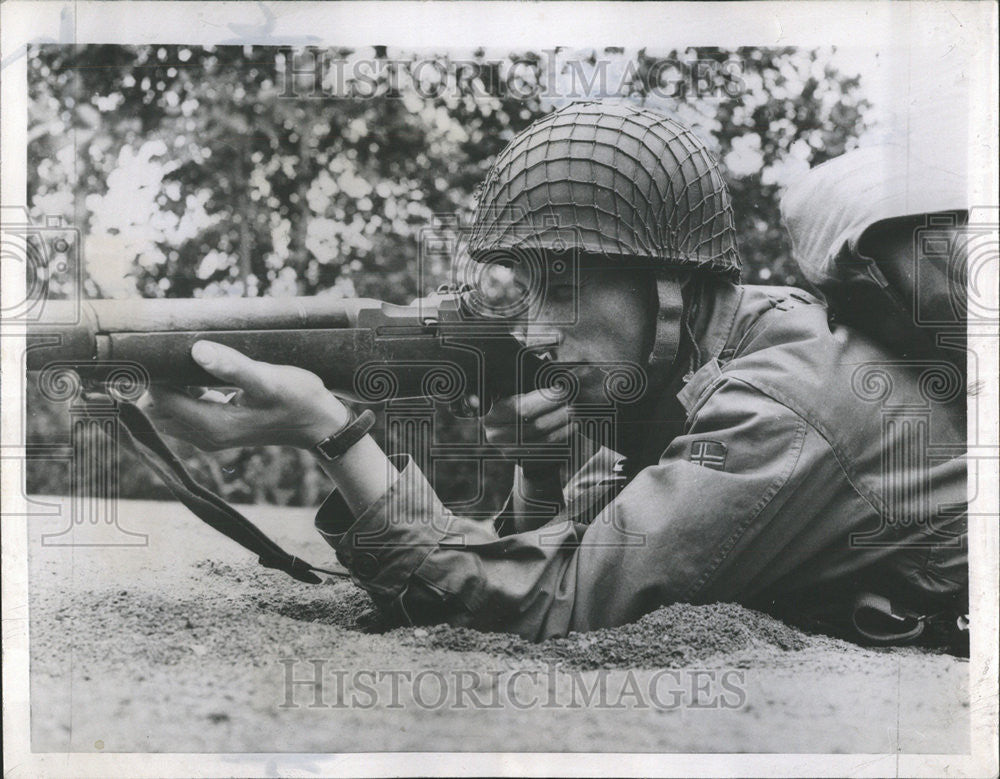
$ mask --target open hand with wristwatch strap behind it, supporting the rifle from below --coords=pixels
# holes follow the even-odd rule
[[[235,395],[213,391],[195,399],[180,389],[153,387],[141,405],[160,430],[199,449],[307,448],[340,430],[350,418],[322,380],[302,368],[258,362],[209,341],[198,341],[191,356],[235,387]]]

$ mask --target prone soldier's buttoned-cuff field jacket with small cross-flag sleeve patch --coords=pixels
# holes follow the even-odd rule
[[[831,591],[875,587],[917,609],[960,595],[955,369],[895,359],[792,288],[720,283],[699,322],[693,370],[643,419],[647,453],[629,467],[599,451],[541,529],[454,515],[405,457],[361,516],[334,492],[317,529],[394,618],[535,640],[672,602],[787,615]]]

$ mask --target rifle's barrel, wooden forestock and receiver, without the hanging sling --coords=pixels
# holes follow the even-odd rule
[[[94,382],[111,381],[127,365],[141,366],[153,383],[218,385],[191,357],[196,341],[210,340],[255,360],[310,370],[338,394],[359,400],[375,402],[384,395],[455,401],[464,392],[488,404],[530,386],[540,364],[502,323],[463,322],[453,305],[439,308],[436,302],[50,301],[44,315],[61,324],[29,328],[27,369],[71,369]]]

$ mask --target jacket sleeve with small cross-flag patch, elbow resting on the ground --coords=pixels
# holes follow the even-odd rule
[[[786,516],[787,497],[805,478],[834,478],[817,467],[830,458],[810,436],[788,408],[723,377],[687,432],[589,524],[557,518],[500,537],[492,523],[452,514],[408,460],[361,516],[335,493],[316,524],[392,616],[541,640],[764,586],[785,567],[773,565],[778,550],[812,521],[799,507]]]

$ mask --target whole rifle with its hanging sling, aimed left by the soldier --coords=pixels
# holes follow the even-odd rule
[[[543,378],[545,347],[522,345],[512,321],[492,316],[469,290],[439,291],[409,306],[325,297],[46,301],[41,322],[28,330],[27,369],[43,387],[75,380],[111,396],[121,442],[181,503],[262,565],[318,583],[316,572],[346,572],[289,554],[198,484],[135,401],[149,384],[218,385],[191,357],[204,339],[310,370],[348,399],[429,397],[481,415]]]

